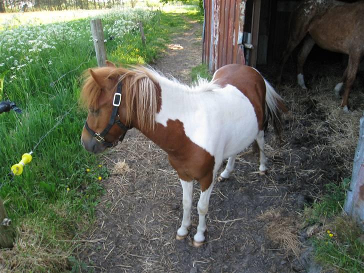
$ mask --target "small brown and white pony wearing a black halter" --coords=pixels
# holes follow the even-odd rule
[[[240,64],[223,66],[211,82],[201,79],[193,87],[149,68],[107,65],[89,69],[83,85],[81,99],[89,110],[82,145],[90,152],[102,152],[131,127],[159,145],[183,188],[183,219],[177,239],[188,233],[192,181],[200,183],[199,221],[193,239],[195,246],[202,244],[208,201],[222,160],[228,158],[219,179],[229,177],[236,153],[255,139],[259,170],[266,171],[264,127],[269,116],[273,124],[280,124],[278,110],[286,111],[282,99],[258,71]]]

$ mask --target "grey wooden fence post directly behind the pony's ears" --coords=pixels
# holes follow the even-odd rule
[[[93,19],[90,21],[90,24],[91,24],[93,45],[96,51],[97,65],[99,67],[106,66],[107,56],[106,56],[105,44],[103,42],[104,36],[103,36],[101,19]]]

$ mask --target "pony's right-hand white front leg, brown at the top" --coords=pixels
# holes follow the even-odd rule
[[[201,184],[201,194],[199,196],[199,200],[197,203],[197,212],[198,212],[198,225],[197,225],[197,232],[193,236],[193,245],[198,247],[203,244],[205,239],[204,232],[206,231],[206,213],[208,211],[208,202],[210,200],[214,180],[215,180],[215,173],[211,177],[200,179]],[[203,185],[208,184],[209,186],[203,190]]]

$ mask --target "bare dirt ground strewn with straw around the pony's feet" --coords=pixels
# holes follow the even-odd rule
[[[201,25],[191,22],[175,35],[155,67],[190,83],[190,68],[201,62]],[[179,46],[177,46],[179,45]],[[364,96],[356,84],[352,112],[342,113],[333,86],[343,68],[307,66],[308,91],[300,90],[285,67],[277,91],[289,107],[283,141],[268,129],[268,173],[258,175],[258,154],[238,155],[231,177],[216,183],[206,216],[206,243],[191,245],[198,221],[195,183],[189,235],[175,239],[182,217],[182,189],[166,153],[134,129],[102,158],[119,169],[104,182],[97,221],[78,257],[96,272],[295,272],[300,258],[303,208],[324,192],[324,184],[349,177]],[[274,67],[258,67],[271,79]],[[288,75],[288,77],[287,77]],[[123,160],[124,163],[120,164]],[[225,164],[226,162],[224,162]],[[221,166],[221,170],[224,167]],[[121,168],[121,169],[120,169]],[[220,170],[220,171],[221,171]]]

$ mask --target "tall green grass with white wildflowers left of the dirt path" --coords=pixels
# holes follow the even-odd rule
[[[140,12],[145,47],[138,27],[131,25],[122,36],[113,32],[122,14],[102,15],[105,38],[115,36],[106,42],[108,59],[121,65],[153,62],[171,34],[188,28],[182,17],[188,12],[193,10],[162,12],[160,25],[155,12],[151,18]],[[0,251],[0,263],[16,272],[76,272],[83,265],[72,254],[75,239],[92,227],[102,181],[109,175],[102,157],[86,152],[79,140],[86,117],[77,105],[80,75],[96,66],[89,20],[5,29],[0,31],[0,47],[0,74],[7,71],[3,99],[23,110],[0,115],[0,197],[17,232],[14,248]],[[10,166],[67,111],[34,150],[23,173],[10,182]]]

